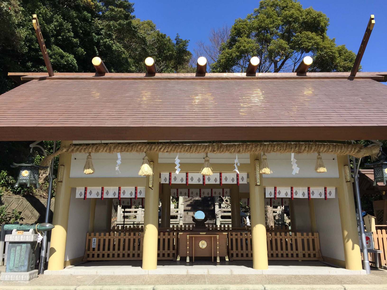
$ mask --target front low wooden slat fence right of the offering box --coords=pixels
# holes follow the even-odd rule
[[[252,259],[251,232],[230,232],[228,236],[230,260]],[[318,233],[267,232],[269,260],[322,261]]]

